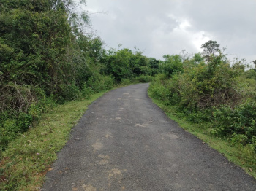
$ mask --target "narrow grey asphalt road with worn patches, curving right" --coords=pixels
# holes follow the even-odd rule
[[[178,127],[130,85],[94,101],[42,190],[256,190],[256,182]]]

